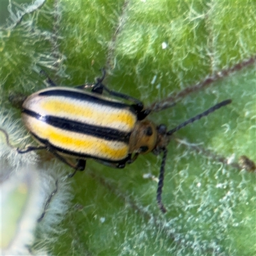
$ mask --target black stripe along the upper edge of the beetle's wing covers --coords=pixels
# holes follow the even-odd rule
[[[45,90],[44,92],[38,93],[39,96],[57,96],[57,97],[65,97],[65,98],[71,98],[71,99],[77,99],[77,100],[83,100],[88,102],[93,102],[102,106],[110,106],[113,108],[129,108],[132,113],[135,114],[134,108],[132,108],[129,104],[124,104],[122,102],[115,102],[107,99],[101,99],[100,97],[97,97],[97,95],[91,95],[87,93],[82,92],[76,92],[72,90]]]

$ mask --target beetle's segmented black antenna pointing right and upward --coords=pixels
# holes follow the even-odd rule
[[[168,131],[166,133],[166,135],[168,135],[168,136],[172,135],[174,132],[177,132],[179,129],[185,127],[186,125],[191,124],[191,123],[195,122],[196,120],[200,120],[202,117],[209,115],[210,113],[216,111],[217,109],[219,109],[223,106],[226,106],[227,104],[230,104],[231,102],[232,102],[232,100],[230,100],[230,99],[221,101],[220,103],[218,103],[215,106],[207,109],[203,113],[190,118],[186,122],[178,125],[177,127],[173,128],[172,130]]]

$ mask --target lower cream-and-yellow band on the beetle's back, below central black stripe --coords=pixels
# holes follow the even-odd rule
[[[129,150],[124,142],[107,141],[86,134],[61,130],[31,117],[29,117],[29,130],[36,136],[48,140],[55,147],[112,161],[124,159]]]

